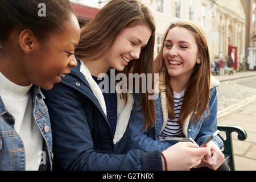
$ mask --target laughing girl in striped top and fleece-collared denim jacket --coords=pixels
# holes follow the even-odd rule
[[[192,138],[200,145],[217,130],[216,86],[219,84],[210,75],[204,31],[192,22],[172,23],[154,65],[159,73],[155,127],[139,131],[143,119],[140,114],[132,113],[131,143],[148,152],[164,151],[183,138]],[[208,146],[211,154],[193,167],[229,169],[220,150],[223,146],[220,137],[214,137]]]

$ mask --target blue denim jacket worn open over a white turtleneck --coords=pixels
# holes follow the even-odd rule
[[[30,89],[33,101],[33,114],[44,139],[43,160],[39,169],[52,169],[52,132],[49,114],[44,104],[44,96],[38,86]],[[15,104],[15,103],[14,103]],[[45,155],[44,155],[45,154]],[[46,156],[46,159],[44,159]],[[22,139],[14,130],[14,117],[3,105],[0,96],[0,170],[19,171],[25,169],[25,152]]]

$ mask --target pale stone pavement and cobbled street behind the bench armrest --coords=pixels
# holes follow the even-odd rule
[[[256,71],[215,76],[218,86],[218,124],[242,127],[247,139],[232,133],[237,171],[256,170]]]

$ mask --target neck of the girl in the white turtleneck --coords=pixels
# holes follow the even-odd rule
[[[20,60],[22,56],[11,57],[13,53],[5,53],[4,50],[0,53],[0,72],[11,82],[16,85],[28,86],[31,83],[24,77],[22,72],[24,65]]]

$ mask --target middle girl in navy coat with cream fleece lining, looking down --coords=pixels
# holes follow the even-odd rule
[[[130,150],[133,96],[125,90],[133,92],[130,86],[141,90],[142,81],[126,86],[126,81],[115,79],[119,73],[126,78],[129,73],[154,73],[154,35],[154,18],[138,0],[110,1],[81,29],[77,67],[44,92],[53,128],[55,169],[162,170],[171,165],[163,157],[169,156],[169,150],[163,156],[159,150]],[[117,92],[120,82],[121,92]],[[154,100],[148,100],[148,92],[140,96],[144,127],[152,127]],[[208,152],[209,148],[201,148],[196,159]]]

